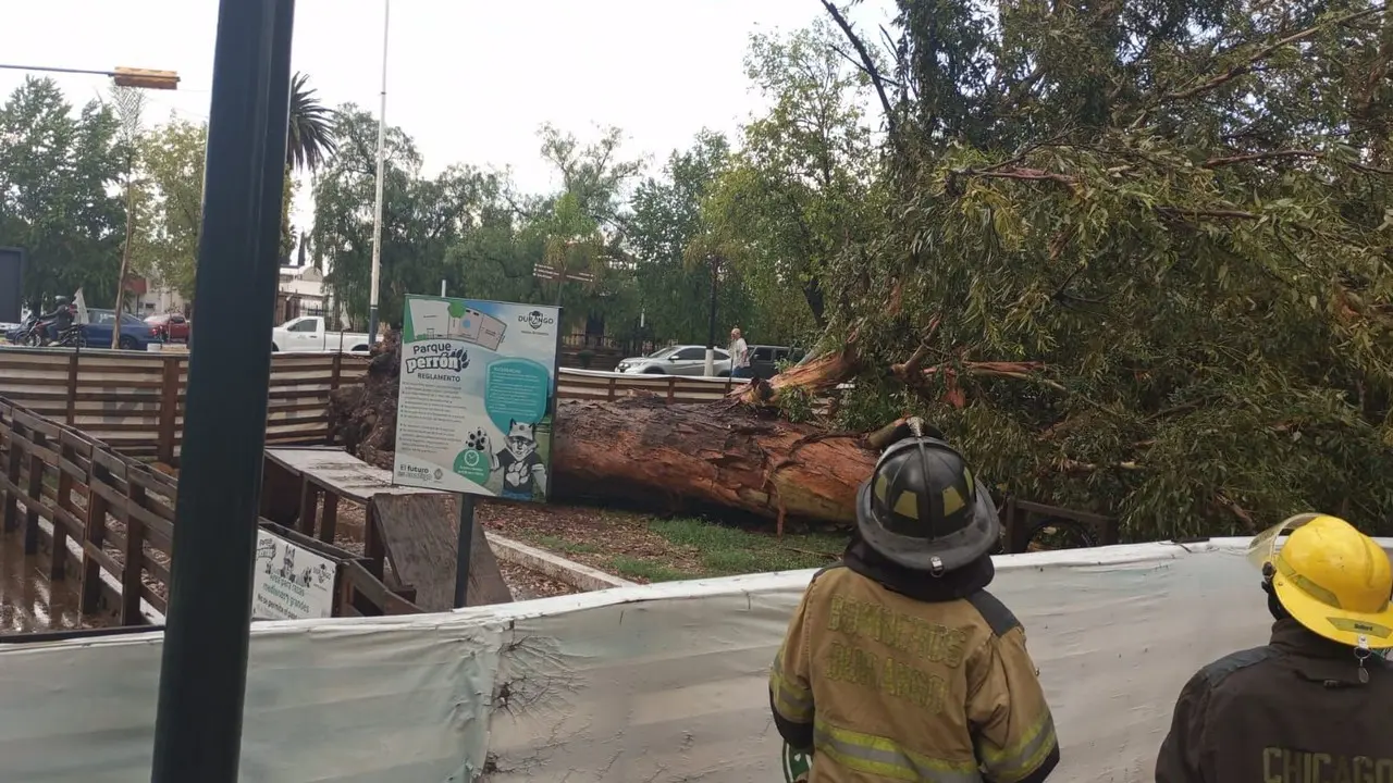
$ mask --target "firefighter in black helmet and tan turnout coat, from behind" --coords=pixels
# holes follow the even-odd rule
[[[811,783],[1038,783],[1055,722],[1021,624],[986,592],[988,488],[918,419],[857,495],[857,535],[802,596],[769,676]]]

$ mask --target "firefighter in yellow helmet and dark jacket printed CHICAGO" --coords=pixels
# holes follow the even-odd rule
[[[1393,665],[1379,655],[1393,646],[1389,555],[1325,514],[1291,517],[1248,553],[1272,639],[1185,684],[1156,783],[1393,782]]]

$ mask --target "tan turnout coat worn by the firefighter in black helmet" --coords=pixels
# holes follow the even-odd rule
[[[986,591],[925,602],[830,567],[769,688],[780,734],[812,748],[811,783],[1036,783],[1059,762],[1025,633]]]

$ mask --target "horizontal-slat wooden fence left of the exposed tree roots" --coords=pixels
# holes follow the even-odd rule
[[[329,393],[357,382],[366,362],[350,354],[273,354],[266,442],[322,442]],[[0,350],[0,397],[134,457],[177,460],[187,385],[188,354]]]

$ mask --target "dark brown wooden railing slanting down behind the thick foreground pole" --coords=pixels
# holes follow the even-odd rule
[[[25,555],[36,556],[46,543],[47,578],[78,580],[84,616],[104,612],[121,626],[137,626],[148,621],[142,603],[166,613],[178,495],[173,476],[7,400],[0,400],[0,546],[13,546],[11,536],[20,534]],[[414,609],[389,595],[358,557],[315,541],[297,543],[337,561],[340,595],[352,596],[351,613]]]

